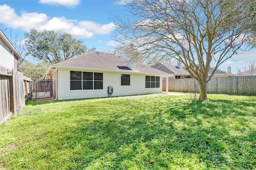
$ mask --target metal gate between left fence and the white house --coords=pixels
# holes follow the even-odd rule
[[[33,99],[55,98],[52,79],[39,79],[33,82]]]

